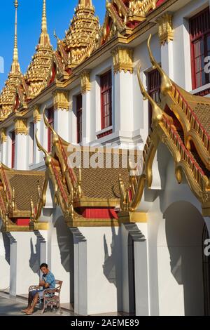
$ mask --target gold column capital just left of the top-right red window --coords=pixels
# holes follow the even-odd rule
[[[166,42],[174,40],[173,15],[170,13],[163,14],[157,20],[158,36],[160,44],[165,45]]]

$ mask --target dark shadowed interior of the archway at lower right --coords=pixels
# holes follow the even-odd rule
[[[164,218],[171,272],[183,285],[185,315],[204,315],[202,215],[192,204],[176,202]]]

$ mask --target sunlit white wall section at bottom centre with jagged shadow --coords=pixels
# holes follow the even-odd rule
[[[80,227],[79,230],[87,239],[87,314],[120,311],[120,228]]]

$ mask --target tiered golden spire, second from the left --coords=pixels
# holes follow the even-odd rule
[[[47,29],[46,1],[43,0],[41,36],[36,46],[36,53],[25,74],[25,81],[28,85],[28,99],[34,98],[47,86],[52,68],[52,53]]]

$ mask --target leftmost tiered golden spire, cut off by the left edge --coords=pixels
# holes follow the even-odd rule
[[[22,76],[20,72],[20,64],[18,60],[18,33],[17,33],[17,20],[18,20],[18,0],[15,0],[15,43],[13,51],[13,63],[8,74],[5,86],[0,95],[0,118],[3,119],[10,112],[13,111],[15,102],[16,86],[20,83]]]

